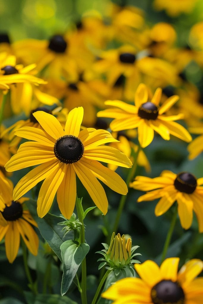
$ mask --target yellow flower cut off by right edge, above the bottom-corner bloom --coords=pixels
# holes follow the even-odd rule
[[[160,177],[137,176],[135,181],[130,183],[130,187],[150,191],[140,196],[138,202],[161,198],[155,208],[156,216],[165,213],[177,201],[178,215],[184,229],[190,228],[194,210],[199,223],[199,231],[203,232],[202,184],[203,178],[197,179],[189,172],[175,174],[166,170],[161,173]]]

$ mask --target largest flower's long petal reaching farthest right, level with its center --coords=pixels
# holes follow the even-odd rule
[[[108,146],[99,146],[94,147],[92,150],[87,150],[84,152],[83,157],[125,168],[130,168],[132,166],[131,160],[125,154]]]

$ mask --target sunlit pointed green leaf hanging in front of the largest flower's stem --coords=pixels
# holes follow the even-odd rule
[[[89,251],[89,245],[81,243],[78,245],[73,240],[61,244],[61,257],[63,261],[63,277],[61,283],[61,295],[64,295],[70,287],[77,270]]]

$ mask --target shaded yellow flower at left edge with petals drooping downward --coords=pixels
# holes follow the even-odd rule
[[[30,252],[37,255],[39,239],[31,226],[37,227],[37,223],[28,210],[23,210],[22,203],[27,199],[21,198],[14,201],[12,182],[4,178],[3,174],[0,174],[0,181],[0,241],[5,236],[6,256],[12,263],[19,250],[20,235]]]

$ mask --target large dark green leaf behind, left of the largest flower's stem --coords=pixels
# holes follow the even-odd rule
[[[61,222],[60,216],[55,216],[51,213],[47,213],[42,219],[37,216],[36,202],[29,200],[26,205],[28,206],[30,213],[37,222],[38,228],[42,237],[47,241],[51,249],[61,260],[60,246],[64,241],[73,239],[73,232],[70,231],[64,236],[61,226],[58,225]],[[62,261],[62,260],[61,260]]]

